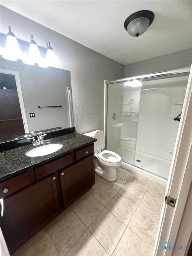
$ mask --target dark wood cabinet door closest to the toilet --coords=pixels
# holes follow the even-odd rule
[[[94,155],[91,155],[60,172],[65,207],[95,184],[94,168]]]

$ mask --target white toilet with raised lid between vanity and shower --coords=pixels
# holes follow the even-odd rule
[[[115,152],[104,150],[105,136],[101,130],[84,135],[97,139],[95,147],[95,172],[108,181],[117,179],[116,169],[121,165],[121,157]]]

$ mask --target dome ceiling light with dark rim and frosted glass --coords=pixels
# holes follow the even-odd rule
[[[151,25],[154,20],[154,13],[143,10],[131,14],[124,22],[124,28],[130,36],[140,36]]]

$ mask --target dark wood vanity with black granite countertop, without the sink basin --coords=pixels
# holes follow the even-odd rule
[[[49,155],[26,156],[32,144],[1,152],[1,229],[10,253],[94,185],[95,141],[72,132],[45,141],[63,145]]]

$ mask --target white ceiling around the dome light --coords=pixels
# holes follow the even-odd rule
[[[1,1],[7,8],[124,65],[191,47],[192,1]],[[131,37],[125,19],[154,12],[147,31]]]

